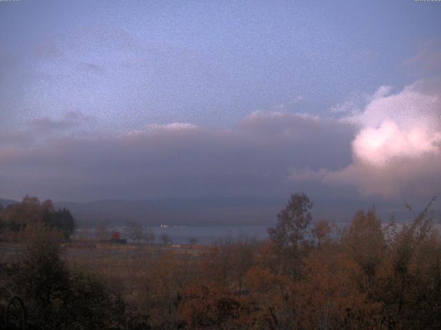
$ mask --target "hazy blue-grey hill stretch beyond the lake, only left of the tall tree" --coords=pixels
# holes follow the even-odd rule
[[[68,208],[80,223],[102,220],[115,224],[141,221],[147,225],[233,225],[271,223],[283,203],[272,199],[194,198],[60,202],[54,206]]]

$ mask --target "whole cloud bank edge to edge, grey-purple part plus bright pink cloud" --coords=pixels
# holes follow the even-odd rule
[[[81,113],[37,118],[28,130],[0,133],[0,195],[440,195],[440,87],[433,79],[383,86],[362,107],[337,106],[338,119],[256,111],[231,129],[147,123],[111,134],[90,129],[96,119]]]

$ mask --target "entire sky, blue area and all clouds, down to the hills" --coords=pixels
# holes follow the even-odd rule
[[[0,0],[0,197],[441,195],[441,1],[210,2]]]

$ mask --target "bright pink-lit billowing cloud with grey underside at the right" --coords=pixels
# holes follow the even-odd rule
[[[365,109],[343,118],[359,127],[342,170],[294,168],[294,181],[357,186],[364,195],[427,197],[441,187],[441,85],[424,80],[392,94],[381,87]]]

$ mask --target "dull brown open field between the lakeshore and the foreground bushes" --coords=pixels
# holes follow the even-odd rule
[[[196,263],[198,256],[208,247],[205,245],[119,244],[96,241],[74,241],[61,244],[63,257],[70,267],[79,267],[99,274],[114,289],[122,292],[128,300],[136,300],[147,290],[146,283],[157,265],[168,262],[188,267]],[[26,245],[0,243],[0,263],[19,261]]]

